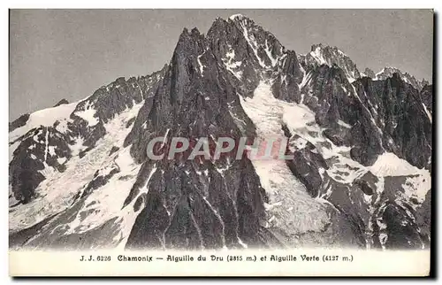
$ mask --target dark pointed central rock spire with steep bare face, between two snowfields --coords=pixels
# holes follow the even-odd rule
[[[259,244],[265,192],[247,158],[232,163],[144,158],[149,136],[164,135],[167,143],[171,137],[230,135],[240,139],[240,128],[228,110],[247,117],[228,73],[217,66],[215,57],[210,52],[210,38],[196,29],[184,30],[147,116],[142,125],[135,121],[133,140],[137,143],[131,152],[144,161],[141,171],[145,174],[139,182],[145,186],[133,188],[125,202],[125,207],[140,212],[127,248]],[[253,137],[253,125],[247,119],[245,123],[250,134],[244,135]],[[138,128],[140,125],[145,127]]]

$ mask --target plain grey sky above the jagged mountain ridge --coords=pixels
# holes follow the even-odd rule
[[[337,46],[363,71],[398,67],[431,81],[431,10],[11,10],[9,119],[161,69],[184,27],[206,33],[241,13],[286,49]]]

